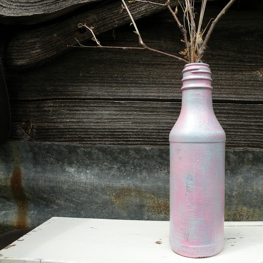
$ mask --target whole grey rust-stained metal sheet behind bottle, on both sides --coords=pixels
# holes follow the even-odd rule
[[[226,151],[225,220],[263,220],[263,150]],[[169,220],[169,149],[7,142],[0,233],[50,217]]]

